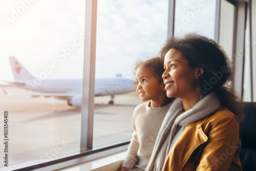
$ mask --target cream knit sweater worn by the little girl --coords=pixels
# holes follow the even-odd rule
[[[134,110],[134,132],[121,167],[145,170],[150,160],[162,121],[172,102],[161,108],[150,108],[149,103],[141,103]]]

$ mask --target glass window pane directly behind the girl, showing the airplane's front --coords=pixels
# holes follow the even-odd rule
[[[156,56],[164,44],[167,20],[166,0],[99,0],[96,78],[135,79],[135,62]],[[133,110],[140,103],[134,95],[117,95],[113,105],[107,105],[110,96],[95,98],[94,146],[131,139]]]

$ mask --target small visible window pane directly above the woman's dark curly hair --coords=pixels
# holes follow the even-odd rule
[[[214,39],[216,0],[175,1],[174,34],[197,33]]]

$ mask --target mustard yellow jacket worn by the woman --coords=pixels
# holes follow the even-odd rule
[[[165,159],[163,170],[242,170],[239,121],[227,108],[190,123]]]

